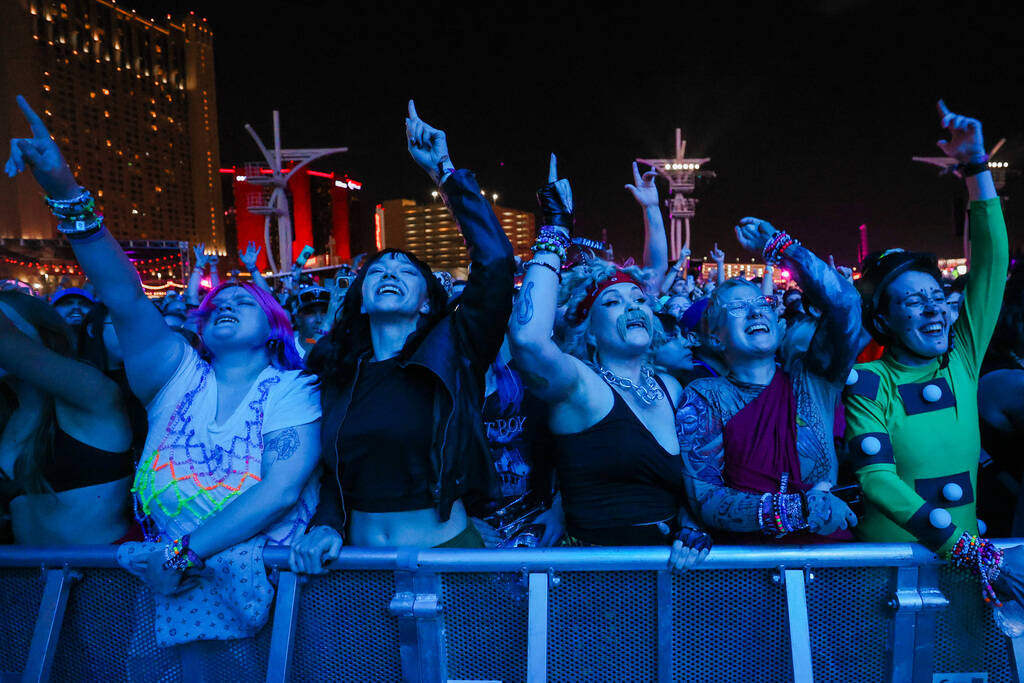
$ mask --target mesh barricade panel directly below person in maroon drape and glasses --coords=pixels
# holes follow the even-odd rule
[[[785,590],[773,573],[716,569],[674,578],[674,681],[793,680]]]

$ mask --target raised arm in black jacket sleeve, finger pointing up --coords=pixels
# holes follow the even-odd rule
[[[455,311],[456,328],[470,360],[482,372],[501,348],[515,294],[515,259],[490,203],[476,177],[455,170],[444,132],[426,124],[410,100],[406,119],[409,153],[435,182],[469,248],[466,289]]]

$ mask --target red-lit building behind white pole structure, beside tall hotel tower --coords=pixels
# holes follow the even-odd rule
[[[263,247],[258,265],[268,267],[265,246],[265,216],[249,211],[249,207],[265,206],[269,185],[249,182],[256,174],[269,175],[270,169],[260,164],[243,164],[222,168],[220,173],[230,179],[232,206],[226,212],[228,230],[239,251],[245,251],[249,242]],[[292,215],[292,253],[298,255],[309,245],[317,255],[319,265],[335,265],[349,260],[358,253],[356,240],[359,227],[359,190],[362,183],[348,176],[300,169],[288,181],[288,199]],[[276,227],[271,227],[270,239],[276,240]],[[322,262],[323,261],[323,262]],[[278,264],[290,269],[291,264]]]

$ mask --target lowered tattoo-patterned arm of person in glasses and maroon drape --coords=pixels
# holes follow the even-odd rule
[[[691,388],[683,391],[676,430],[683,454],[683,474],[690,509],[712,528],[758,531],[761,496],[725,485],[725,425],[708,401]]]

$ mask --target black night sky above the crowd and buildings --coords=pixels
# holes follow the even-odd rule
[[[214,31],[221,160],[254,160],[243,125],[286,146],[347,145],[315,166],[364,181],[378,201],[425,200],[404,150],[406,101],[447,132],[452,158],[500,203],[534,210],[547,156],[572,182],[578,233],[607,228],[616,256],[639,256],[642,221],[623,189],[635,157],[712,158],[718,177],[693,223],[695,255],[745,215],[788,229],[837,262],[904,246],[961,255],[953,183],[915,155],[940,154],[935,100],[980,118],[986,144],[1018,164],[1024,148],[1022,24],[1001,12],[897,2],[794,2],[780,12],[716,3],[133,2],[141,14],[196,9]],[[768,3],[762,3],[767,5]],[[1005,191],[1024,243],[1024,180]],[[664,189],[664,188],[663,188]],[[369,221],[368,221],[369,222]]]

